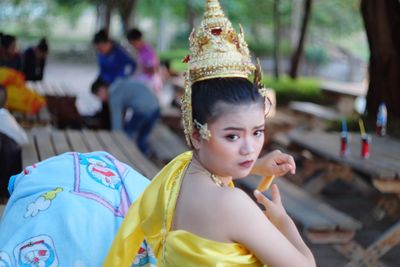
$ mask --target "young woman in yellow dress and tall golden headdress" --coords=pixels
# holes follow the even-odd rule
[[[257,161],[269,106],[259,69],[254,83],[247,79],[254,66],[243,34],[217,0],[207,1],[190,46],[182,111],[193,150],[164,167],[131,206],[105,266],[130,266],[143,239],[160,266],[315,266],[276,185],[272,201],[254,192],[264,212],[233,187],[250,173],[281,175],[295,166],[279,151]]]

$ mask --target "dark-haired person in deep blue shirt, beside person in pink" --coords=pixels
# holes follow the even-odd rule
[[[135,72],[137,67],[135,60],[122,46],[109,38],[105,29],[94,35],[93,44],[97,51],[99,76],[107,83],[111,84],[117,78],[127,77]]]

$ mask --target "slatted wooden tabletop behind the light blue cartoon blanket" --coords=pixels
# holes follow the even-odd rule
[[[149,179],[158,172],[158,168],[122,132],[34,128],[28,132],[28,137],[30,144],[22,149],[24,167],[69,151],[106,151]]]

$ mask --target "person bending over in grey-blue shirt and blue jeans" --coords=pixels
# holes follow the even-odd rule
[[[144,83],[133,79],[117,79],[111,85],[98,78],[91,91],[102,102],[108,102],[113,131],[125,131],[136,140],[139,149],[147,156],[149,135],[160,117],[157,96]],[[133,116],[124,121],[125,111],[133,110]]]

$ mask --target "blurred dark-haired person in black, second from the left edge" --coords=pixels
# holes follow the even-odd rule
[[[41,81],[43,79],[48,52],[49,46],[45,38],[42,38],[36,46],[25,50],[23,72],[27,81]]]

